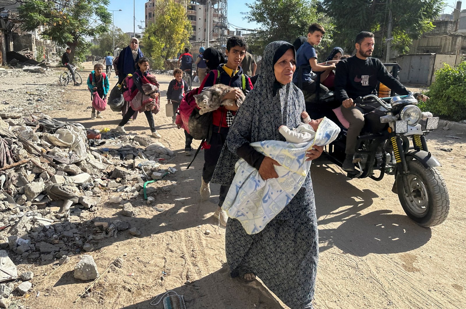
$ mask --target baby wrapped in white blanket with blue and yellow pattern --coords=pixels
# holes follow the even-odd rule
[[[281,166],[274,166],[278,178],[263,180],[259,171],[244,159],[235,164],[235,176],[222,209],[241,222],[247,234],[257,234],[293,199],[308,175],[311,161],[306,151],[314,145],[325,146],[336,139],[340,128],[324,117],[311,120],[301,114],[304,123],[295,129],[280,126],[287,141],[260,141],[250,145]]]

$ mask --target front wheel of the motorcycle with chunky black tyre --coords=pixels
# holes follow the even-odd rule
[[[409,192],[397,175],[397,192],[406,215],[418,225],[432,227],[444,222],[450,210],[450,196],[437,168],[425,168],[419,161],[407,161]],[[398,172],[399,173],[399,172]]]

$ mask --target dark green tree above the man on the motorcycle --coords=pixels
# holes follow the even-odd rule
[[[339,32],[336,42],[346,50],[354,49],[354,39],[360,31],[376,36],[375,56],[383,56],[389,11],[392,12],[391,48],[401,53],[409,51],[412,40],[431,31],[434,20],[443,9],[439,0],[323,0],[323,7]]]

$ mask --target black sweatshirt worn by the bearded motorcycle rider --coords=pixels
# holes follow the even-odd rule
[[[352,56],[336,64],[335,96],[340,102],[368,94],[377,95],[376,87],[379,82],[395,90],[397,94],[408,94],[408,90],[388,73],[377,58],[368,57],[362,60]]]

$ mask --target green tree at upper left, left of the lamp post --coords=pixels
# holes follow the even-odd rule
[[[89,53],[86,37],[94,37],[109,29],[109,0],[25,0],[18,8],[21,28],[32,31],[42,27],[42,35],[58,46],[71,48],[73,63]]]

